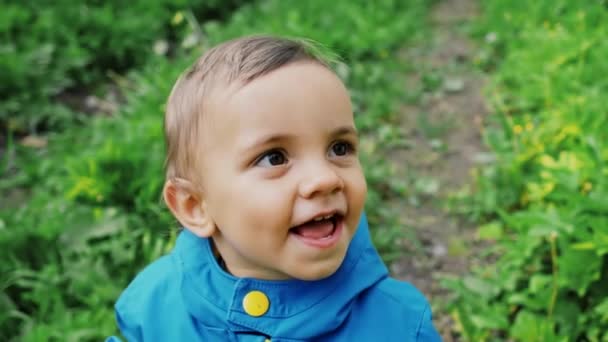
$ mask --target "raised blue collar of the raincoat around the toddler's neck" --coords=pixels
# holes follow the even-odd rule
[[[218,265],[210,240],[186,229],[178,237],[174,252],[181,267],[184,303],[201,324],[223,322],[235,332],[296,340],[314,339],[339,328],[348,318],[353,301],[388,276],[372,245],[365,216],[342,265],[331,276],[317,281],[234,277]],[[248,315],[242,306],[250,291],[261,291],[270,301],[268,311],[260,317]]]

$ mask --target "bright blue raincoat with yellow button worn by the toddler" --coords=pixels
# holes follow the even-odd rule
[[[115,308],[129,341],[440,341],[424,296],[388,276],[365,216],[342,265],[318,281],[236,278],[184,230]]]

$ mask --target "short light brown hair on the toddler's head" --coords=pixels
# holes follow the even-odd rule
[[[177,80],[167,102],[165,177],[200,186],[201,119],[205,97],[212,89],[241,85],[291,63],[312,61],[329,68],[318,44],[301,39],[249,36],[220,44],[203,54]]]

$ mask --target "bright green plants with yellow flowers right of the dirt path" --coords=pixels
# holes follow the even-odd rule
[[[460,209],[485,220],[490,265],[454,291],[470,341],[608,340],[608,10],[601,1],[483,2],[479,66],[496,162]]]

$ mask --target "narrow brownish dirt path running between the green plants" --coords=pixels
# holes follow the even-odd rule
[[[474,248],[471,223],[448,213],[445,202],[470,182],[470,170],[483,152],[484,80],[472,68],[475,46],[463,32],[477,14],[474,0],[439,1],[431,14],[433,40],[403,52],[415,70],[406,91],[419,89],[421,96],[417,104],[402,108],[402,133],[410,148],[393,151],[391,159],[414,189],[410,205],[399,209],[401,223],[417,239],[404,242],[407,254],[393,264],[392,272],[435,303],[446,295],[437,278],[465,273]],[[444,341],[455,340],[450,317],[441,310],[435,316]]]

